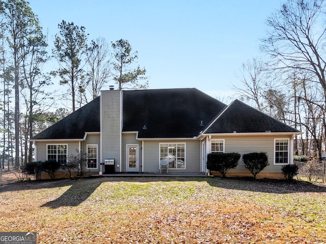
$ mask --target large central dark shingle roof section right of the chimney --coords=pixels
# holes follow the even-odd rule
[[[123,131],[138,131],[138,138],[193,138],[226,106],[196,88],[126,90]]]

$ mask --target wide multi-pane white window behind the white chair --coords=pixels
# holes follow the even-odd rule
[[[169,169],[185,169],[185,143],[160,143],[160,162],[169,164]]]

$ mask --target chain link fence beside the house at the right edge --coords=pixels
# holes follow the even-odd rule
[[[325,182],[325,163],[326,161],[308,161],[294,164],[298,166],[297,178],[313,182]]]

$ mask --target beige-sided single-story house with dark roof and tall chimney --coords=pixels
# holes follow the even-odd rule
[[[104,174],[159,173],[165,163],[169,174],[207,174],[209,153],[265,151],[269,166],[258,176],[280,178],[282,165],[293,162],[298,134],[243,102],[227,106],[196,88],[110,89],[31,140],[36,161],[62,164],[87,153],[88,174],[102,167]],[[106,162],[114,165],[101,166]],[[246,175],[242,159],[227,174]]]

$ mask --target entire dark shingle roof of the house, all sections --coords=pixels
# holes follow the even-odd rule
[[[138,131],[139,138],[193,138],[202,131],[299,132],[238,100],[226,106],[196,88],[123,91],[123,131]],[[99,97],[32,140],[83,139],[85,132],[100,132]]]

